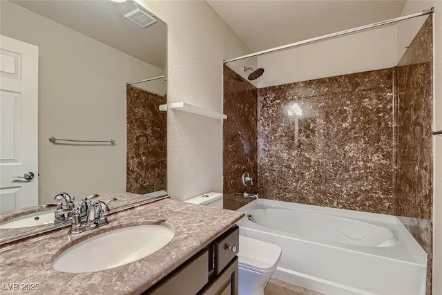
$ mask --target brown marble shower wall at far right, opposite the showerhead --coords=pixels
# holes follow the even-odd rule
[[[396,68],[396,216],[428,255],[432,266],[432,16]]]

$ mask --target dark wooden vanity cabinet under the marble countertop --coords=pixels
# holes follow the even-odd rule
[[[232,227],[143,294],[237,295],[239,233]]]

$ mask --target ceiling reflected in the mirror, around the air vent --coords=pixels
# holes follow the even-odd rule
[[[3,1],[3,0],[0,0]],[[148,64],[166,67],[166,24],[141,28],[124,17],[135,10],[133,1],[12,0],[13,3],[61,23]]]

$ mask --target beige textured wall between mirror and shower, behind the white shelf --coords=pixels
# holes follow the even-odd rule
[[[222,60],[249,53],[205,1],[141,1],[168,24],[168,102],[222,112]],[[222,121],[169,111],[167,189],[185,200],[222,191]]]

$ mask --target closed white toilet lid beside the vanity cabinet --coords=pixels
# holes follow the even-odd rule
[[[240,236],[239,266],[255,272],[271,272],[278,264],[281,248],[278,245]]]

